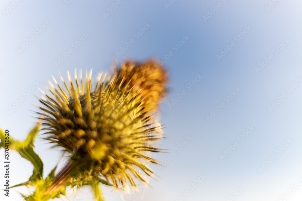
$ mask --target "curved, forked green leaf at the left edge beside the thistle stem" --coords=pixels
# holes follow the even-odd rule
[[[39,155],[37,155],[37,153],[34,152],[33,149],[33,143],[37,137],[38,131],[40,130],[40,126],[41,124],[37,124],[28,133],[27,138],[24,141],[14,140],[11,136],[9,136],[8,148],[16,150],[21,155],[21,157],[30,161],[34,166],[33,174],[31,175],[29,180],[27,182],[17,184],[13,187],[28,185],[43,178],[43,162],[40,159]],[[1,129],[0,129],[0,139],[1,139],[0,147],[6,148],[4,143],[5,132]]]

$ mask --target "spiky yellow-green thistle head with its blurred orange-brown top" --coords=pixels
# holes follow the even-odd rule
[[[99,77],[93,90],[91,77],[92,71],[86,71],[85,83],[75,76],[74,84],[68,73],[67,84],[62,77],[66,90],[53,77],[57,88],[50,82],[52,96],[44,93],[39,99],[44,107],[38,114],[50,134],[46,139],[70,153],[83,178],[103,177],[115,187],[128,181],[136,186],[133,176],[145,182],[140,170],[152,176],[146,162],[158,164],[147,156],[160,151],[153,141],[162,139],[149,114],[164,97],[166,71],[153,60],[128,61]]]

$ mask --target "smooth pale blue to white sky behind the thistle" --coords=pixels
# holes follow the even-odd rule
[[[141,193],[136,195],[114,193],[112,188],[103,187],[107,200],[121,200],[122,196],[129,201],[181,201],[181,194],[187,190],[185,201],[278,201],[287,193],[287,200],[301,200],[302,187],[298,184],[302,178],[301,1],[121,0],[108,16],[104,13],[117,0],[69,1],[1,1],[0,127],[3,130],[9,129],[11,136],[24,139],[34,126],[36,115],[31,110],[37,110],[34,103],[38,103],[34,95],[41,93],[34,89],[27,95],[26,90],[31,90],[35,82],[46,91],[43,83],[49,86],[47,80],[51,75],[59,80],[59,72],[67,78],[67,70],[74,76],[75,68],[93,68],[96,76],[98,72],[110,71],[112,61],[121,63],[127,58],[143,61],[151,57],[162,60],[171,51],[170,58],[162,60],[169,71],[170,83],[160,115],[168,138],[159,142],[159,147],[169,149],[170,153],[153,155],[160,161],[166,160],[166,167],[152,165],[158,175],[156,180],[148,180],[153,188],[142,185]],[[12,2],[18,3],[13,6]],[[174,3],[168,6],[169,2]],[[269,6],[272,8],[268,9]],[[208,19],[204,17],[207,15]],[[144,26],[146,30],[141,36],[135,34]],[[74,45],[83,33],[86,39],[79,46]],[[16,50],[31,37],[34,40],[23,51]],[[131,39],[134,43],[122,55],[117,53]],[[182,40],[185,43],[179,43]],[[175,46],[178,43],[182,45],[179,48]],[[69,56],[56,66],[55,62],[69,49],[72,50]],[[227,53],[218,60],[221,51]],[[264,68],[255,69],[265,60],[269,62]],[[202,78],[195,83],[196,75]],[[189,87],[189,83],[195,84],[194,87]],[[239,89],[235,96],[234,88]],[[179,96],[182,98],[176,98]],[[270,110],[268,107],[278,97],[282,101],[277,101],[278,106]],[[7,114],[6,110],[20,98],[24,101]],[[179,101],[171,107],[169,104],[175,103],[175,98]],[[219,108],[221,103],[224,107],[217,113],[215,107]],[[216,115],[208,121],[211,112]],[[254,129],[239,140],[238,136],[248,127]],[[182,143],[186,137],[192,138],[191,141]],[[237,146],[233,147],[234,143]],[[282,145],[286,149],[276,151]],[[62,154],[50,149],[40,138],[35,146],[47,175]],[[234,149],[221,160],[220,155],[229,147]],[[2,163],[3,149],[0,152]],[[175,154],[169,159],[172,152]],[[259,171],[262,163],[274,154],[275,159]],[[32,165],[20,158],[11,151],[10,185],[24,182],[31,175]],[[3,168],[0,174],[2,189]],[[199,175],[205,177],[201,182]],[[198,185],[193,188],[194,182]],[[300,188],[293,190],[294,185]],[[18,201],[22,200],[18,192],[27,193],[27,189],[11,190],[9,199],[1,192],[1,200]],[[240,193],[238,197],[236,192]],[[78,197],[69,194],[72,200],[93,200],[87,188]],[[236,199],[230,198],[233,194]]]

